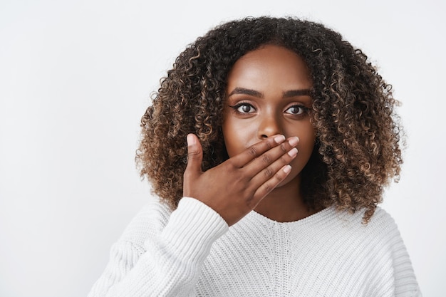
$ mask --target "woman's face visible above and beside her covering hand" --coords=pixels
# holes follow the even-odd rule
[[[293,51],[267,45],[247,53],[227,78],[223,135],[229,157],[271,135],[299,137],[297,157],[280,185],[299,176],[315,141],[310,73]]]

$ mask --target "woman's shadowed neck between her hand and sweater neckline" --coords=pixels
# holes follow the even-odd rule
[[[276,187],[256,206],[254,211],[276,222],[294,222],[315,213],[308,209],[301,195],[301,179]]]

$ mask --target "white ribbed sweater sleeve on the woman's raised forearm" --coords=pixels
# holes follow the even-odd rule
[[[213,209],[184,197],[167,224],[143,240],[143,246],[123,234],[88,297],[193,296],[204,259],[227,229]]]

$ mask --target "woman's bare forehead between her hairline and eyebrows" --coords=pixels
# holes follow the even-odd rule
[[[310,71],[294,51],[281,46],[267,45],[245,54],[229,71],[228,88],[311,88]],[[240,85],[242,84],[242,85]],[[235,86],[235,87],[237,87]],[[289,87],[287,87],[289,86]]]

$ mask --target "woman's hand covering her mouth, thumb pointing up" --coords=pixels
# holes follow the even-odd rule
[[[183,196],[207,204],[232,226],[288,176],[298,142],[298,137],[285,141],[284,135],[274,135],[202,172],[202,146],[189,134]]]

